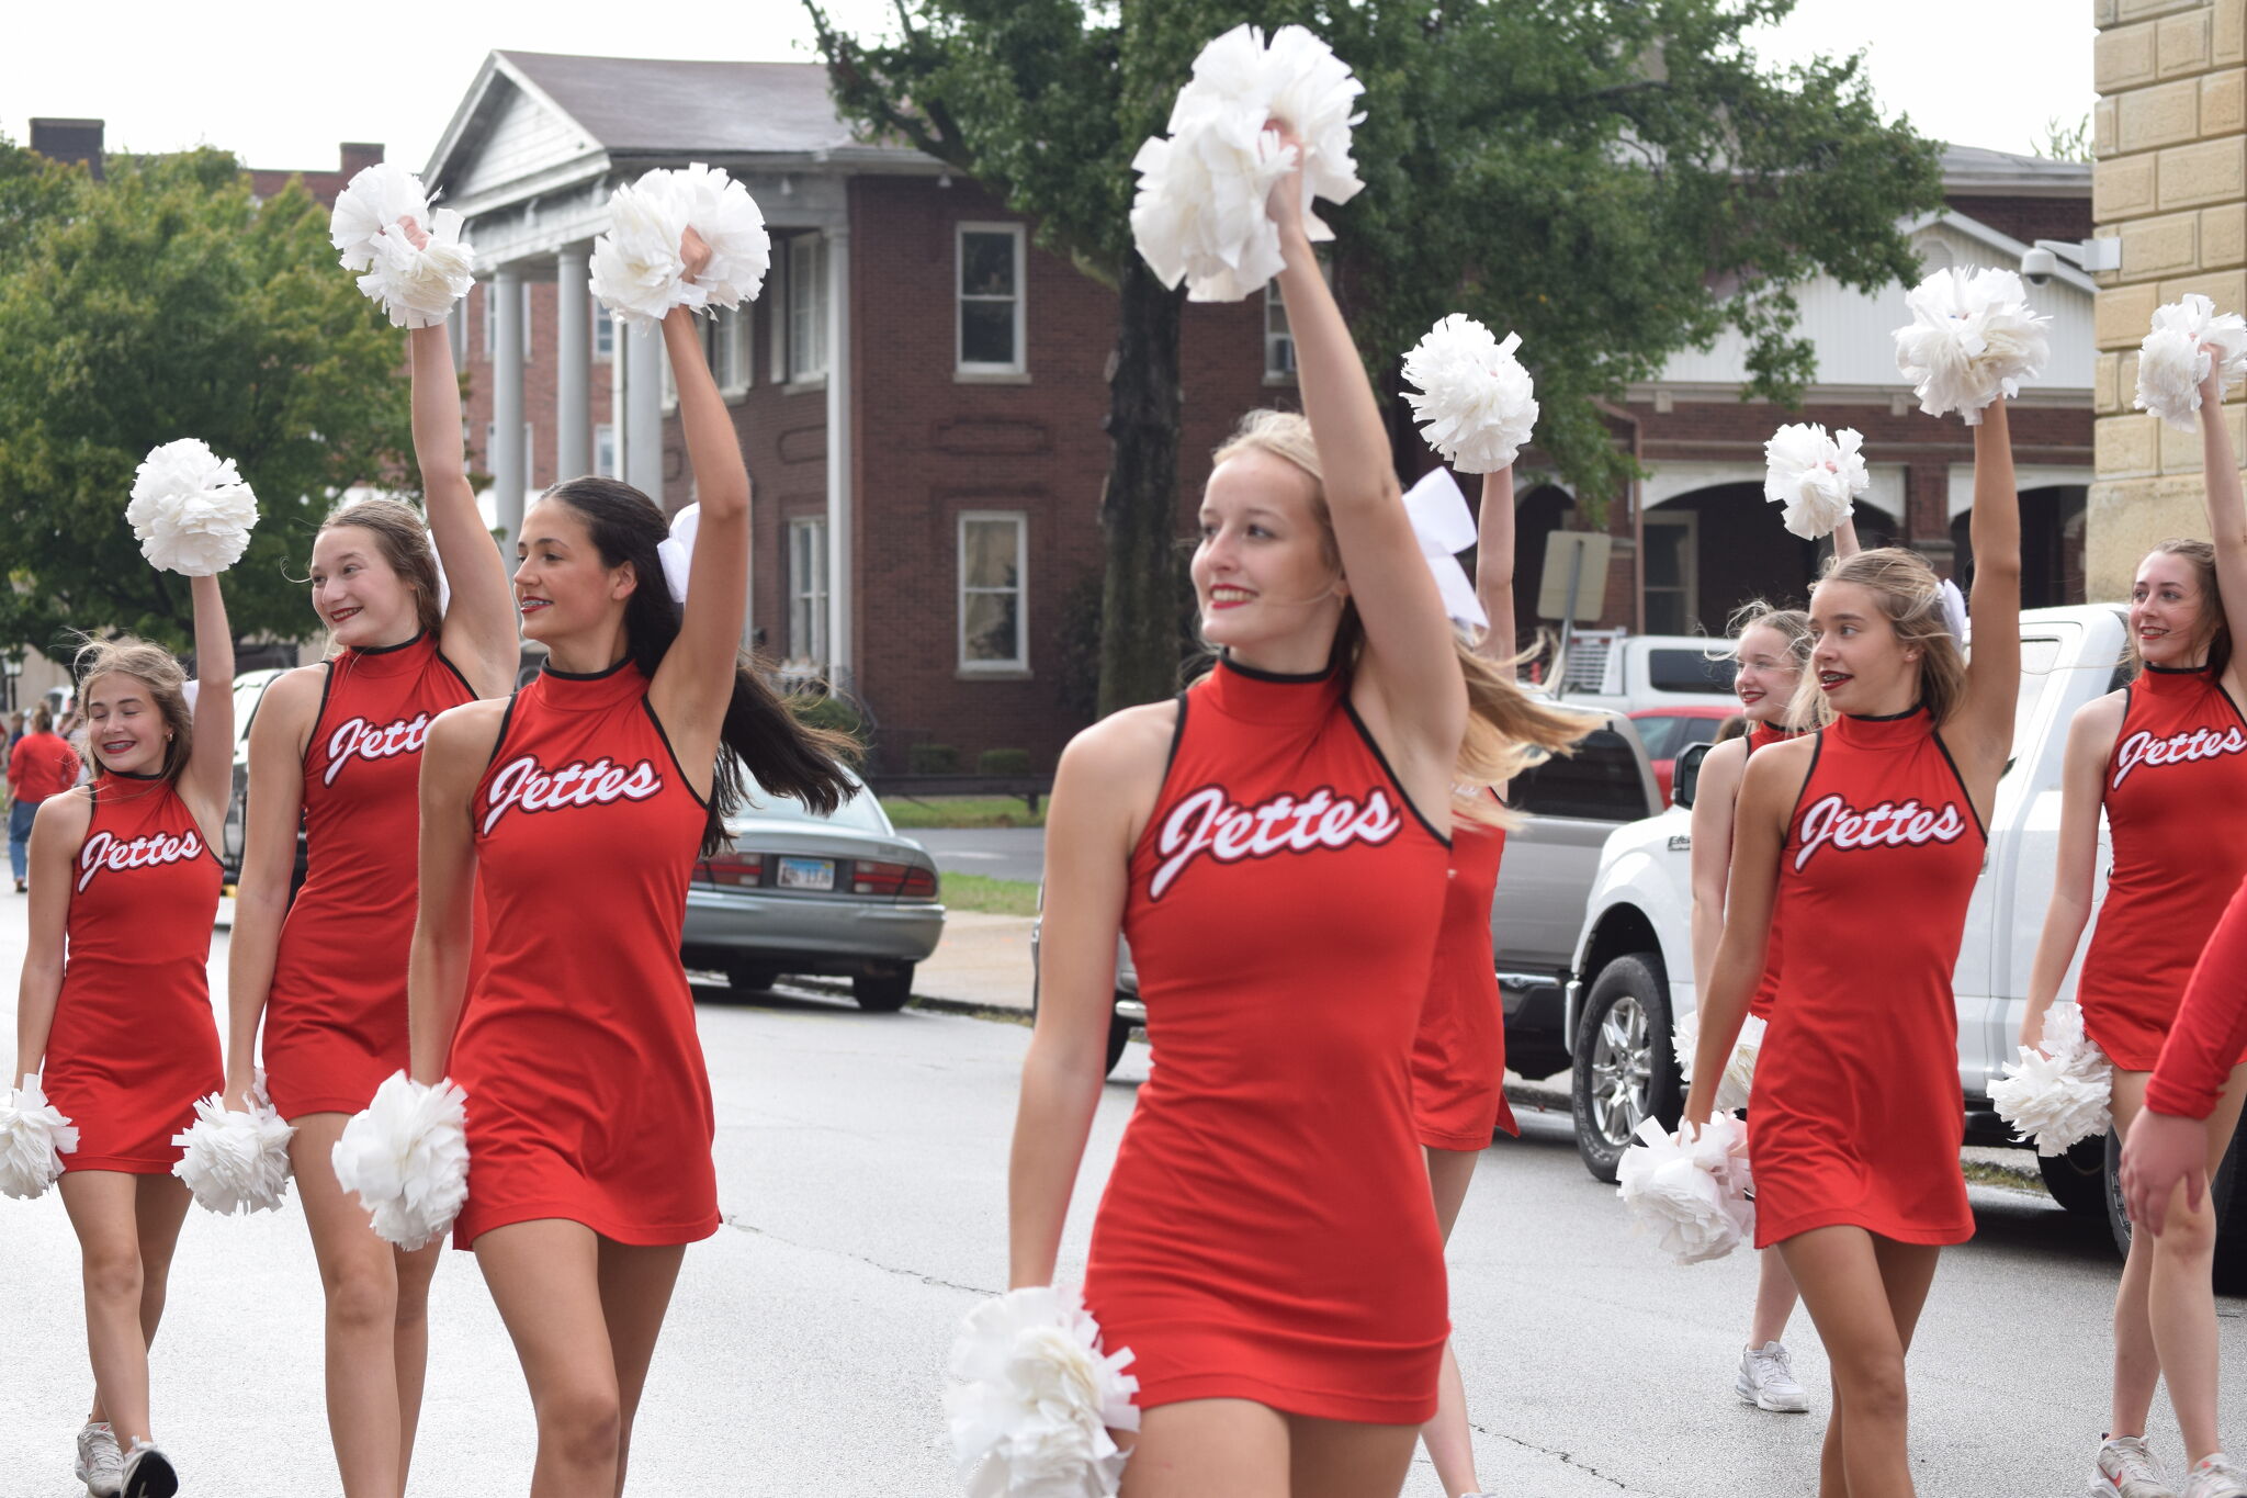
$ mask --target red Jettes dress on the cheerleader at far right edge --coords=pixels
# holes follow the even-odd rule
[[[2148,665],[2126,687],[2103,793],[2114,867],[2076,1002],[2121,1071],[2153,1071],[2193,963],[2247,878],[2247,719],[2211,672]]]

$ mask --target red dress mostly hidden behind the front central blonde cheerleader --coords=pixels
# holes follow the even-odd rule
[[[1488,1150],[1497,1130],[1521,1132],[1505,1105],[1505,1002],[1490,952],[1490,901],[1503,856],[1503,826],[1452,820],[1436,968],[1411,1047],[1413,1116],[1431,1150]]]

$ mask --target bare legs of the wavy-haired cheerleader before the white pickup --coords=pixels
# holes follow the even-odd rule
[[[1903,1354],[1939,1249],[1856,1226],[1811,1228],[1780,1246],[1834,1368],[1820,1498],[1910,1498]]]

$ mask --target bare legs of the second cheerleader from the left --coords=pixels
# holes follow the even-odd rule
[[[328,1298],[328,1437],[344,1498],[400,1498],[429,1361],[429,1276],[443,1242],[400,1253],[375,1237],[330,1157],[348,1118],[294,1121],[290,1163]]]

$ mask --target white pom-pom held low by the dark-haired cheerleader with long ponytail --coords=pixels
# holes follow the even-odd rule
[[[467,1202],[467,1094],[391,1074],[335,1141],[335,1179],[400,1249],[436,1242]]]

